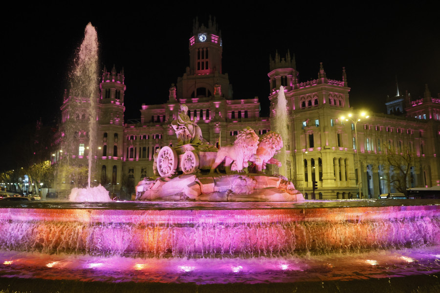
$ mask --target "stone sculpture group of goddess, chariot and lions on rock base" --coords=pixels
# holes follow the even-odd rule
[[[217,147],[204,142],[199,126],[187,115],[188,107],[171,123],[177,146],[164,146],[154,156],[154,173],[136,186],[136,200],[298,202],[303,195],[282,175],[266,175],[266,164],[281,163],[273,158],[283,147],[280,134],[269,131],[261,138],[250,127],[238,132],[231,145]],[[226,174],[216,174],[224,162]],[[249,167],[251,173],[245,173]],[[210,170],[203,174],[201,170]],[[179,175],[179,173],[182,173]]]

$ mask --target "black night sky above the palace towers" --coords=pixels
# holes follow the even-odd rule
[[[227,8],[159,4],[163,7],[87,13],[10,11],[2,20],[6,53],[0,170],[14,167],[19,154],[7,149],[23,126],[34,127],[40,117],[48,125],[60,117],[68,72],[89,21],[98,32],[102,67],[124,67],[126,120],[140,118],[142,103],[167,100],[169,87],[189,65],[193,20],[207,24],[209,15],[221,30],[223,73],[229,74],[234,98],[258,96],[262,115],[268,115],[269,55],[276,50],[282,56],[287,49],[295,54],[300,82],[315,79],[320,62],[329,79],[341,80],[345,66],[350,105],[357,109],[384,112],[387,95],[396,94],[396,75],[400,92],[408,90],[413,98],[423,96],[424,84],[433,96],[440,92],[439,15],[434,7],[288,3],[270,1],[260,7],[254,2],[241,11],[235,8],[238,2]]]

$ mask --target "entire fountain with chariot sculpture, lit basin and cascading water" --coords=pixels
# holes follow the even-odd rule
[[[438,291],[438,201],[304,200],[263,173],[283,166],[281,131],[244,128],[217,149],[186,111],[137,201],[86,188],[72,202],[0,203],[0,290]]]

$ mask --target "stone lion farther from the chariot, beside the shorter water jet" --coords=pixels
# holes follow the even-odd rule
[[[265,133],[260,139],[256,154],[249,159],[249,161],[254,163],[250,172],[262,172],[266,168],[266,164],[276,164],[278,167],[281,167],[280,161],[274,159],[273,155],[282,147],[283,139],[280,134],[274,131]]]

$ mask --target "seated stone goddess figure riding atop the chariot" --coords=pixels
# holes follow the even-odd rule
[[[180,105],[179,115],[176,120],[171,122],[177,135],[177,145],[200,144],[202,133],[200,127],[196,124],[196,117],[191,120],[188,116],[188,106]]]

